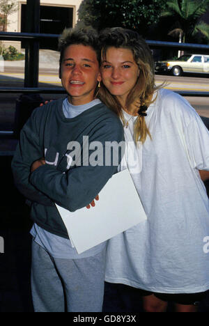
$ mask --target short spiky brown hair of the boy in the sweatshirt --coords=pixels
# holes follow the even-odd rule
[[[59,51],[60,51],[60,66],[63,61],[65,49],[70,45],[84,45],[92,47],[97,55],[98,62],[100,63],[100,46],[98,42],[98,32],[95,29],[83,27],[74,29],[64,29],[59,38]]]

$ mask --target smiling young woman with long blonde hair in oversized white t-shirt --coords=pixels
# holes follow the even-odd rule
[[[100,42],[100,99],[134,141],[127,167],[148,217],[109,240],[106,280],[139,288],[145,311],[166,311],[169,301],[178,312],[196,311],[209,289],[201,180],[209,178],[209,132],[184,98],[155,87],[150,49],[137,33],[107,29]]]

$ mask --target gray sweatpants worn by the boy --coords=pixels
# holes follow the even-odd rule
[[[106,249],[81,259],[52,258],[32,242],[31,289],[35,312],[100,312]]]

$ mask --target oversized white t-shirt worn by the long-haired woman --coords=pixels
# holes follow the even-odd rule
[[[148,220],[109,240],[106,281],[158,293],[203,292],[209,199],[199,170],[209,170],[209,132],[184,98],[165,89],[147,113],[152,139],[137,146],[138,173],[131,172]],[[133,127],[134,118],[124,128],[126,141]]]

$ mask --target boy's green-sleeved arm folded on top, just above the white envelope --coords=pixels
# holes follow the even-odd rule
[[[93,166],[91,155],[88,166],[70,168],[65,173],[59,171],[59,166],[56,168],[45,164],[31,173],[31,183],[55,203],[72,212],[91,203],[116,173],[121,162],[124,150],[123,126],[116,124],[114,129],[109,130],[107,125],[100,127],[98,137],[97,132],[94,134],[93,141],[95,139],[102,143],[100,152],[97,151],[98,156],[103,158],[102,165]],[[122,143],[122,148],[118,146],[119,143]]]

